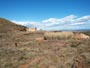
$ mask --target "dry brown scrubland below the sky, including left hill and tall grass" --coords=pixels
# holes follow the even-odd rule
[[[90,39],[78,38],[87,33],[25,28],[0,18],[0,68],[90,68]]]

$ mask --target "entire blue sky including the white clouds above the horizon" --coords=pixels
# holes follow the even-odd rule
[[[0,17],[44,30],[90,29],[90,0],[0,0]]]

